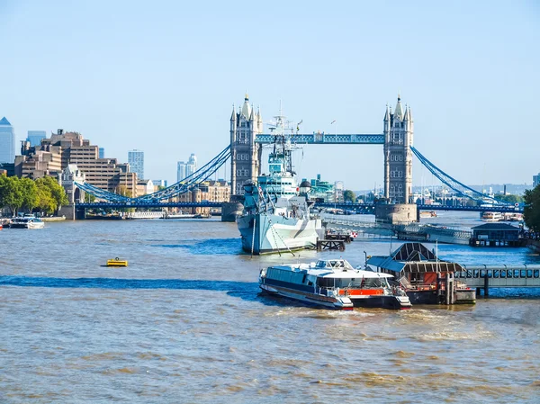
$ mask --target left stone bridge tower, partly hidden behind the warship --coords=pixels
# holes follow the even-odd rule
[[[230,194],[243,195],[243,184],[247,180],[256,181],[260,175],[261,148],[255,143],[257,134],[263,132],[263,118],[260,109],[257,114],[249,105],[246,94],[238,112],[232,106],[230,115]]]

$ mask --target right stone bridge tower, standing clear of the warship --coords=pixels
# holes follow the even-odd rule
[[[386,106],[384,114],[384,197],[393,203],[412,202],[412,146],[414,123],[410,107]]]

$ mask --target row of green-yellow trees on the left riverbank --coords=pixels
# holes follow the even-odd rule
[[[64,188],[51,176],[34,181],[0,175],[0,209],[8,208],[13,215],[21,209],[51,214],[67,203]]]

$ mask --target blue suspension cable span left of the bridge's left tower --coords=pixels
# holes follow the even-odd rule
[[[102,188],[98,188],[88,183],[75,183],[85,193],[91,193],[96,198],[104,199],[109,202],[157,202],[167,200],[181,193],[191,191],[193,188],[206,181],[213,175],[218,169],[230,157],[230,145],[220,151],[216,157],[213,157],[208,163],[199,168],[193,174],[186,176],[182,181],[179,181],[171,186],[166,187],[156,193],[148,193],[147,195],[139,196],[138,198],[130,198],[129,196],[120,195],[118,193],[111,193],[105,191]]]

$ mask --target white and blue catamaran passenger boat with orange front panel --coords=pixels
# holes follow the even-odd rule
[[[391,274],[355,269],[340,258],[269,266],[259,274],[259,287],[264,292],[335,310],[410,309],[409,297],[391,278]]]

